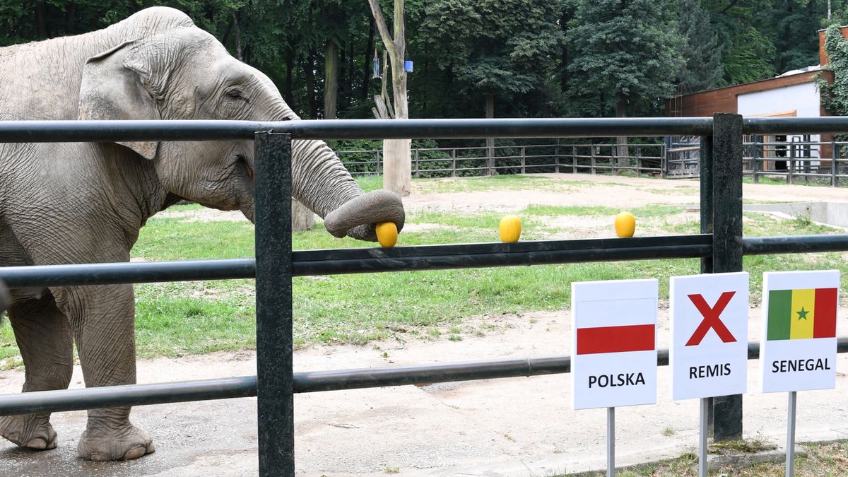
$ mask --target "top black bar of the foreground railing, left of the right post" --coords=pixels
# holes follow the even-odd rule
[[[711,133],[712,118],[0,121],[0,143],[212,141],[262,131],[298,139],[681,136]]]

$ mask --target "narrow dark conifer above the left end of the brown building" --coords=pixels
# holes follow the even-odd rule
[[[683,36],[681,53],[686,60],[678,74],[678,84],[685,84],[692,92],[716,86],[724,74],[722,51],[710,14],[700,7],[700,0],[680,0],[678,25]]]

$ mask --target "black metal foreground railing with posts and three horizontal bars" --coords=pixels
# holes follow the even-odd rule
[[[742,135],[848,132],[848,118],[383,120],[383,121],[0,121],[0,142],[111,142],[253,139],[256,258],[0,268],[9,287],[256,278],[257,376],[134,384],[0,396],[0,415],[258,396],[259,474],[293,475],[293,393],[437,381],[567,373],[567,357],[293,373],[293,276],[437,268],[505,267],[580,261],[695,257],[701,272],[736,272],[744,254],[848,250],[848,234],[742,238]],[[450,137],[701,136],[700,235],[516,244],[449,244],[394,249],[292,251],[292,139]],[[756,356],[749,345],[749,356]],[[840,351],[848,342],[839,341]],[[752,354],[753,353],[753,354]],[[667,364],[664,353],[658,364]],[[717,439],[741,435],[741,397],[714,398]],[[712,408],[712,407],[711,407]]]

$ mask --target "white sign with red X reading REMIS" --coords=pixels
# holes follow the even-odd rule
[[[672,277],[672,399],[745,394],[748,272]]]

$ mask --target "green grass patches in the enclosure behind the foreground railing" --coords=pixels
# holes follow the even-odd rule
[[[381,185],[378,177],[359,177],[357,181],[365,189]],[[456,182],[477,188],[493,184],[527,187],[548,181],[551,179],[546,177],[496,176]],[[438,182],[443,181],[421,183]],[[178,205],[173,210],[198,207]],[[611,221],[617,211],[603,206],[530,205],[518,215],[523,222],[522,239],[545,239],[553,233],[569,233],[568,227],[556,225],[555,217],[608,216]],[[660,233],[698,231],[697,219],[689,220],[691,212],[684,215],[687,212],[681,207],[643,205],[632,211],[640,223],[650,223],[652,230]],[[495,241],[500,218],[494,213],[417,211],[410,213],[408,222],[433,227],[402,233],[401,245]],[[754,212],[745,212],[744,228],[749,237],[837,232],[810,221],[780,220]],[[610,237],[611,225],[597,233]],[[372,245],[335,239],[321,225],[293,234],[295,250],[363,246]],[[253,255],[254,227],[248,222],[187,222],[173,216],[153,216],[132,250],[132,256],[148,261]],[[843,272],[842,289],[848,288],[848,267],[841,253],[749,255],[744,263],[755,304],[760,300],[764,271],[836,268]],[[293,279],[294,340],[298,346],[364,344],[393,337],[460,341],[490,334],[494,328],[491,318],[499,314],[566,309],[571,300],[568,284],[573,281],[658,278],[661,299],[667,299],[669,277],[698,271],[698,260],[683,259],[298,277]],[[253,280],[139,284],[136,301],[139,356],[254,348]],[[0,325],[0,368],[18,365],[20,357],[7,321]]]

